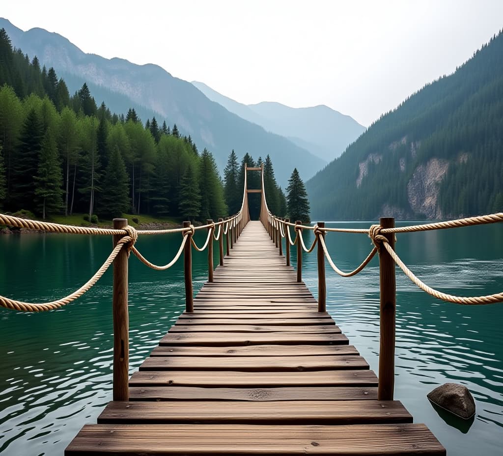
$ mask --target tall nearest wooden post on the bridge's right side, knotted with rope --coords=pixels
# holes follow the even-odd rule
[[[382,228],[394,228],[393,217],[382,217]],[[384,235],[390,247],[395,249],[395,235]],[[392,401],[395,385],[395,313],[396,313],[396,282],[395,262],[386,251],[381,248],[379,252],[379,284],[381,340],[379,349],[379,401]]]

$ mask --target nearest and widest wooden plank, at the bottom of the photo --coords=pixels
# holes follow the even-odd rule
[[[244,424],[85,425],[65,454],[364,456],[445,455],[424,424],[267,426]]]

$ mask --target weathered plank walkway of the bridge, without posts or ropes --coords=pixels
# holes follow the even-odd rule
[[[198,293],[65,454],[445,454],[377,377],[267,232],[249,222]]]

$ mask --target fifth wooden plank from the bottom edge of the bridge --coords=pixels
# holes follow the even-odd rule
[[[362,356],[151,356],[140,370],[239,370],[249,372],[368,369]]]

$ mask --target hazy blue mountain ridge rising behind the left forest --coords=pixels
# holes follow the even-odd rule
[[[238,156],[248,152],[256,160],[269,154],[282,186],[286,186],[294,167],[307,179],[326,164],[285,137],[210,101],[192,84],[174,78],[160,66],[86,54],[57,33],[39,28],[23,32],[6,19],[0,19],[0,28],[6,29],[13,46],[30,57],[37,55],[47,67],[53,66],[71,91],[85,81],[97,102],[104,100],[112,111],[125,113],[134,107],[142,117],[157,113],[160,123],[163,119],[170,125],[176,123],[181,133],[190,134],[200,148],[211,150],[221,170],[232,149]]]

